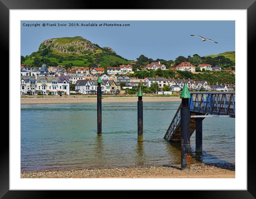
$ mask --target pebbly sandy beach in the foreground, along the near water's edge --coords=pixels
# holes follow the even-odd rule
[[[235,166],[193,164],[21,172],[21,178],[235,178]]]

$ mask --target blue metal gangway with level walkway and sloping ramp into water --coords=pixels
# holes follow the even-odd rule
[[[235,92],[190,92],[190,136],[196,130],[196,118],[235,118]],[[178,107],[164,139],[170,142],[181,140],[181,105]]]

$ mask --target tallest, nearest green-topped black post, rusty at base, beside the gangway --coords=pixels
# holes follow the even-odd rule
[[[190,107],[187,84],[181,92],[181,170],[190,169]]]

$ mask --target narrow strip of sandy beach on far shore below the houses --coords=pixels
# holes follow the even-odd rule
[[[113,102],[137,102],[138,97],[105,97],[102,103]],[[143,102],[173,102],[181,101],[179,97],[143,97]],[[96,103],[97,97],[87,96],[35,96],[21,97],[21,104],[42,104],[42,103]]]

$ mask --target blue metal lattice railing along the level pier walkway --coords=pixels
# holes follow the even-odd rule
[[[191,112],[230,115],[235,118],[235,92],[190,92]]]

